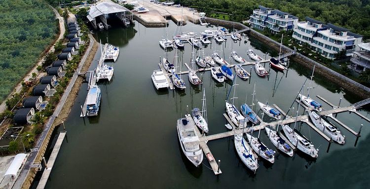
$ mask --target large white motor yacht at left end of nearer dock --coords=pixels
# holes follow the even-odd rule
[[[199,138],[195,133],[194,126],[189,124],[186,118],[178,119],[177,134],[186,158],[198,167],[203,161],[203,151],[199,146]]]

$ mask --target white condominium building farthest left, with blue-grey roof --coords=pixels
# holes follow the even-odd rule
[[[293,30],[298,22],[298,17],[280,10],[273,10],[259,5],[259,9],[253,10],[248,23],[259,30],[264,30],[266,27],[273,32],[283,30]]]

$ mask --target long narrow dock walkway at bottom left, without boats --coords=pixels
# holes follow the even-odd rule
[[[55,160],[57,159],[60,147],[62,146],[64,138],[66,137],[66,134],[67,134],[67,132],[59,133],[57,142],[55,143],[55,146],[53,148],[53,151],[51,152],[50,158],[47,161],[47,168],[45,167],[44,172],[42,173],[41,179],[40,179],[40,181],[37,185],[37,189],[44,189],[45,188],[46,182],[49,179],[51,170],[53,168]]]

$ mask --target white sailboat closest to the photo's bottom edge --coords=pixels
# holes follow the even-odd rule
[[[239,158],[251,171],[256,173],[259,167],[258,160],[247,141],[243,138],[243,134],[234,134],[234,145]]]

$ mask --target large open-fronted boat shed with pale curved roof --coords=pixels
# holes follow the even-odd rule
[[[91,6],[86,17],[95,29],[97,29],[97,23],[100,21],[103,22],[106,30],[109,28],[107,19],[111,17],[118,18],[122,24],[125,23],[126,19],[130,20],[130,22],[133,20],[133,15],[129,9],[113,2],[102,2]],[[96,21],[97,19],[99,20],[98,22]]]

